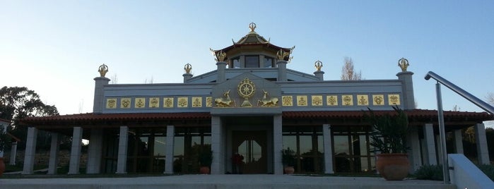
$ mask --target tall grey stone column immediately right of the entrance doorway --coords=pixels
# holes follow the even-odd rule
[[[273,158],[274,158],[274,174],[283,174],[283,161],[281,150],[283,150],[283,118],[281,115],[273,116]]]

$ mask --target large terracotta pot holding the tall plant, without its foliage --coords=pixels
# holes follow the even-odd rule
[[[401,181],[408,176],[410,161],[406,154],[377,154],[376,168],[387,181]]]

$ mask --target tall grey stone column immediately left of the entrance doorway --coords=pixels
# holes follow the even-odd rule
[[[223,174],[225,170],[223,135],[224,132],[220,116],[211,116],[211,150],[213,150],[211,174]]]

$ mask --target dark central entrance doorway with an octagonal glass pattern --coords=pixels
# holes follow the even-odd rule
[[[241,162],[232,159],[233,172],[267,173],[266,140],[266,130],[233,130],[232,150],[243,157]]]

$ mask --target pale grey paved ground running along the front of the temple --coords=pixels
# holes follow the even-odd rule
[[[377,177],[295,175],[182,175],[137,178],[18,178],[0,179],[1,189],[10,188],[455,188],[442,181],[384,181]]]

